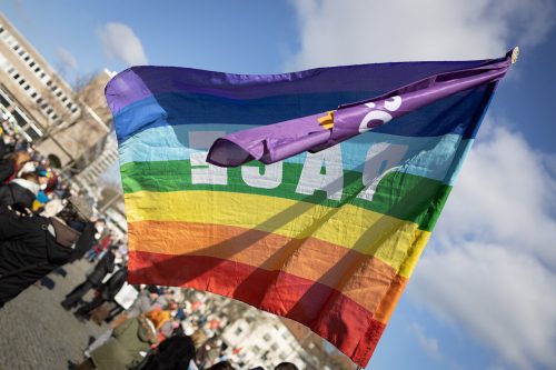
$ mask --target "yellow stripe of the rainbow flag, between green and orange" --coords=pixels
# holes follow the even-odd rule
[[[138,191],[125,197],[128,222],[228,224],[287,238],[312,237],[374,256],[404,277],[410,276],[429,238],[414,222],[350,204],[330,208],[221,191]]]

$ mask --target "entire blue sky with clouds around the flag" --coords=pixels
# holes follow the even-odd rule
[[[2,11],[70,81],[140,63],[272,73],[495,58],[519,44],[368,368],[556,368],[553,1],[60,0]]]

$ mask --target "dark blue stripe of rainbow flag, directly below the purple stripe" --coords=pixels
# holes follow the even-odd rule
[[[330,92],[236,100],[202,93],[162,93],[127,106],[115,117],[120,143],[148,128],[178,124],[270,124],[336,109],[375,92]],[[486,106],[492,88],[457,93],[388,122],[376,132],[405,137],[447,133],[474,138],[479,117],[469,114]]]

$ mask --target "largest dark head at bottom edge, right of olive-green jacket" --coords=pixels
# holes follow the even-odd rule
[[[192,369],[195,346],[191,338],[173,336],[152,350],[135,370],[185,370]],[[225,368],[222,368],[225,369]],[[234,368],[232,368],[234,369]]]

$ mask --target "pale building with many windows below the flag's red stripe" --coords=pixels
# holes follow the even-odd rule
[[[201,302],[205,314],[221,323],[219,338],[229,359],[240,369],[274,369],[292,362],[300,370],[355,370],[356,366],[322,338],[295,321],[209,292],[185,289],[186,298]]]

